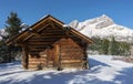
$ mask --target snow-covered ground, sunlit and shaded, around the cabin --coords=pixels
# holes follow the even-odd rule
[[[0,64],[0,84],[133,84],[133,64],[109,55],[89,56],[90,70],[25,71],[19,62]]]

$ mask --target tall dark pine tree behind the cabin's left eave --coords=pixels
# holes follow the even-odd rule
[[[8,20],[6,21],[6,30],[4,32],[7,33],[4,35],[3,41],[13,38],[19,33],[19,31],[22,29],[21,28],[21,20],[18,18],[18,14],[16,12],[11,12],[10,15],[8,17]],[[20,52],[20,48],[13,46],[13,45],[6,45],[6,43],[2,44],[2,50],[4,50],[3,54],[4,55],[4,62],[11,62],[16,59],[18,53]]]

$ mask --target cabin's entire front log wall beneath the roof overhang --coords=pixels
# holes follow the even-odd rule
[[[40,35],[33,35],[27,42],[29,48],[28,67],[30,70],[59,66],[82,69],[83,66],[85,53],[82,41],[72,34],[66,35],[61,29],[48,28],[41,31]],[[60,60],[57,57],[57,44],[60,46]]]

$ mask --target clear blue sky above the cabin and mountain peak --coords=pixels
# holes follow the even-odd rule
[[[11,11],[29,25],[45,14],[64,23],[106,14],[117,24],[133,28],[133,0],[0,0],[0,28]]]

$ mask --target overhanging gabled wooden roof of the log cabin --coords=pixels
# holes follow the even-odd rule
[[[28,40],[29,38],[31,38],[32,35],[38,35],[38,31],[43,30],[44,28],[47,28],[47,25],[52,25],[54,23],[57,23],[59,27],[61,27],[62,29],[65,29],[66,27],[64,27],[64,23],[58,19],[55,19],[54,17],[48,14],[47,17],[42,18],[41,20],[39,20],[38,22],[35,22],[34,24],[32,24],[31,27],[29,27],[28,29],[25,29],[24,31],[22,31],[21,33],[14,35],[13,38],[7,40],[7,44],[16,44],[18,43],[18,41],[24,41]],[[71,27],[69,27],[71,28]],[[30,31],[32,31],[33,33],[29,33]],[[76,35],[78,38],[80,38],[81,40],[85,41],[86,43],[93,43],[93,41],[85,36],[84,34],[80,33],[79,31],[74,30],[73,28],[71,28],[69,30],[69,32],[71,32],[72,34]]]

